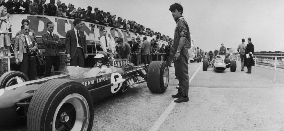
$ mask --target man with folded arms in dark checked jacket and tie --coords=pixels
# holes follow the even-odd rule
[[[46,24],[47,32],[42,34],[42,43],[45,47],[45,77],[50,76],[51,68],[53,65],[54,71],[59,70],[60,66],[60,55],[59,47],[62,45],[59,37],[52,33],[54,29],[54,24],[48,22]]]

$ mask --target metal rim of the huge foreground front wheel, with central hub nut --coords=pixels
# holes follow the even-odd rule
[[[90,110],[87,100],[80,94],[67,95],[57,106],[53,120],[53,131],[87,130]]]

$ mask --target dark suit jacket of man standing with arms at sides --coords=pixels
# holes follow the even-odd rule
[[[84,32],[81,30],[79,30],[79,35],[81,39],[81,45],[82,45],[83,52],[84,54],[87,54],[88,50],[87,50],[86,36],[84,35]],[[77,37],[76,37],[74,29],[71,29],[66,32],[65,47],[66,47],[66,54],[70,54],[71,59],[72,59],[77,50]]]

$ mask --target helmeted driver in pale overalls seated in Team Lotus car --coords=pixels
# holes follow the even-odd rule
[[[99,52],[94,58],[96,64],[94,68],[92,68],[90,71],[84,74],[85,77],[90,78],[112,72],[110,68],[106,67],[107,58],[108,58],[106,53]]]

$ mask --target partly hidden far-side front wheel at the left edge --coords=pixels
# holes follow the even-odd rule
[[[29,77],[20,71],[8,71],[0,77],[0,89],[18,84],[17,79],[21,82],[29,81]]]

